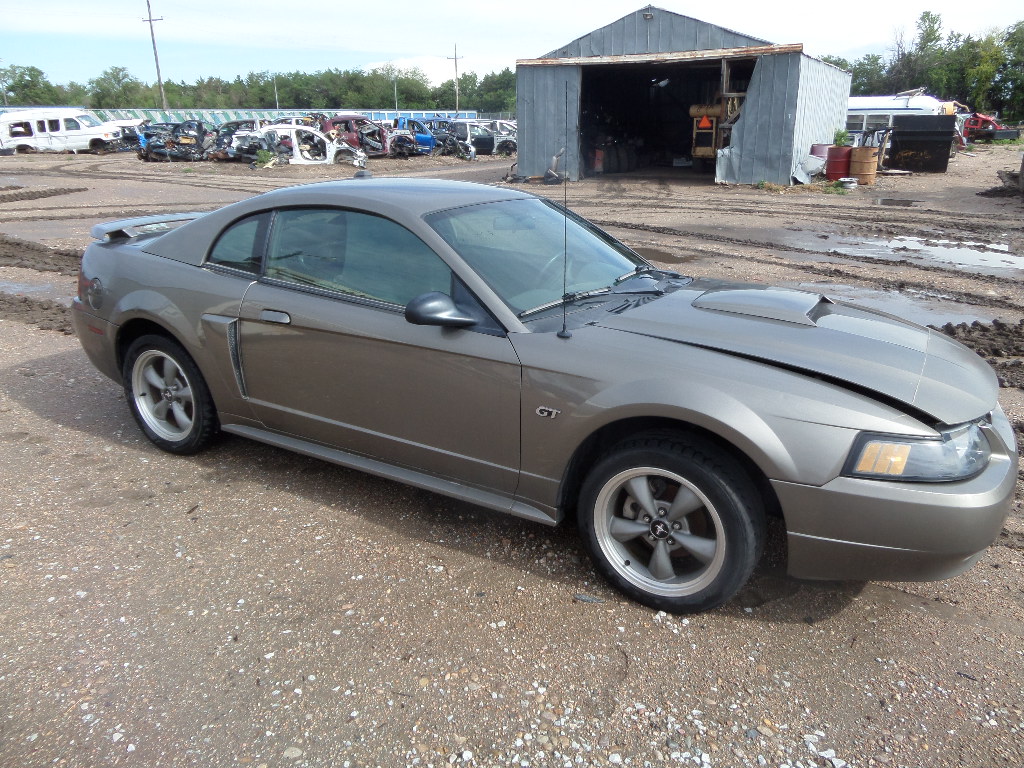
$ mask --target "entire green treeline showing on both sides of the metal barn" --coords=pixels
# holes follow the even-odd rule
[[[1024,22],[975,37],[943,33],[938,13],[925,11],[916,35],[896,36],[888,55],[868,53],[849,61],[824,60],[853,73],[853,95],[885,95],[924,87],[939,98],[977,112],[996,112],[1005,120],[1024,121]],[[143,83],[123,67],[112,67],[87,83],[50,83],[35,67],[0,68],[4,103],[81,104],[93,109],[160,108],[156,83]],[[305,73],[250,73],[234,80],[204,78],[195,83],[165,82],[171,109],[455,110],[456,83],[431,86],[419,69],[383,67]],[[505,69],[478,78],[459,78],[458,106],[485,113],[515,111],[515,73]]]

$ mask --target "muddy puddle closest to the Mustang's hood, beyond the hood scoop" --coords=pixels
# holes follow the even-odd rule
[[[919,326],[944,326],[959,323],[991,323],[998,312],[994,309],[958,303],[953,297],[929,294],[904,289],[897,291],[876,291],[857,286],[836,283],[788,283],[782,284],[801,291],[814,291],[829,299],[847,301],[857,306],[877,309]]]

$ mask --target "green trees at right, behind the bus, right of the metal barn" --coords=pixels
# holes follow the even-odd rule
[[[1024,22],[975,37],[944,34],[938,13],[925,11],[907,42],[897,35],[888,56],[868,53],[855,61],[823,56],[853,73],[854,96],[877,96],[924,87],[932,96],[959,101],[975,112],[1024,121]]]

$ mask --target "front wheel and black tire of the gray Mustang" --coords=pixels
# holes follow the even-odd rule
[[[613,587],[671,613],[729,600],[764,550],[754,482],[729,454],[693,437],[651,434],[613,447],[584,481],[578,522]]]

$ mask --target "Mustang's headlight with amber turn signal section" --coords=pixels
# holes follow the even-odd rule
[[[865,432],[854,443],[843,474],[877,480],[966,480],[988,465],[991,449],[978,423],[950,427],[938,437]]]

